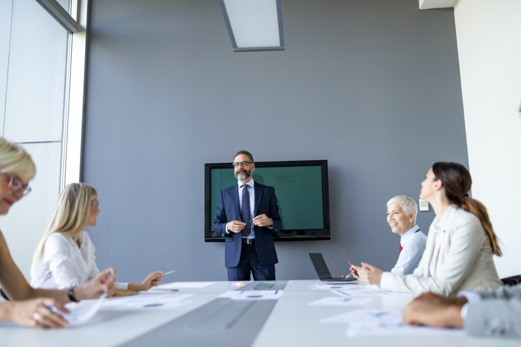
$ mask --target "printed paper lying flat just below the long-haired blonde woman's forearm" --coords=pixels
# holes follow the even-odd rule
[[[139,294],[108,298],[103,303],[103,309],[172,309],[187,304],[186,299],[194,294]]]

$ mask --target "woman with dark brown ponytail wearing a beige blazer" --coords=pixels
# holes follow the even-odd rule
[[[421,182],[420,198],[431,204],[436,218],[418,267],[411,275],[396,275],[362,263],[352,267],[356,277],[396,292],[450,295],[499,288],[502,283],[492,259],[502,255],[498,238],[485,206],[468,195],[471,186],[463,165],[432,165]]]

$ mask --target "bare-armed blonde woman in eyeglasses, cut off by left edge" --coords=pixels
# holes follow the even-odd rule
[[[0,139],[0,214],[31,190],[28,182],[35,175],[34,163],[21,147]],[[0,286],[9,296],[9,302],[0,303],[0,321],[38,328],[58,328],[67,325],[65,319],[51,312],[54,307],[68,312],[63,304],[70,301],[93,299],[113,286],[116,272],[107,269],[83,286],[64,290],[33,289],[13,262],[2,232],[0,232]]]

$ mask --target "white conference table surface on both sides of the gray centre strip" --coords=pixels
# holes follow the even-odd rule
[[[200,307],[218,295],[235,290],[232,282],[215,282],[211,286],[196,289],[181,289],[179,293],[194,293],[189,304],[175,309],[140,309],[134,311],[110,311],[101,309],[88,324],[59,330],[38,330],[0,324],[0,344],[10,346],[95,346],[109,347],[128,342],[157,328],[193,309]],[[318,280],[289,281],[284,294],[278,300],[262,330],[258,333],[254,347],[268,345],[319,346],[344,343],[379,345],[385,347],[449,347],[472,346],[519,346],[515,340],[469,338],[449,336],[369,336],[348,337],[347,325],[320,324],[322,318],[356,309],[347,306],[309,306],[308,303],[334,296],[329,291],[312,291],[309,286]],[[146,295],[146,294],[145,294]],[[367,309],[402,309],[415,295],[382,295],[365,305]]]

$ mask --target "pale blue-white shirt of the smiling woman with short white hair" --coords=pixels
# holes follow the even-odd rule
[[[391,272],[398,275],[412,274],[425,251],[426,243],[427,237],[417,225],[407,230],[400,238],[402,252]]]

